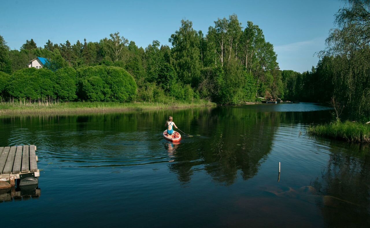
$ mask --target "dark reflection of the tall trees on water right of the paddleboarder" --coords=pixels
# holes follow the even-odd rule
[[[269,154],[280,114],[237,108],[192,113],[192,125],[211,138],[198,142],[194,150],[178,151],[174,159],[178,163],[169,168],[178,174],[181,182],[189,182],[193,167],[199,165],[221,184],[233,184],[238,170],[247,180],[257,174],[258,167]]]

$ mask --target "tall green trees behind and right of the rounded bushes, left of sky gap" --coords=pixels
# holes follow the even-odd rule
[[[9,77],[12,81],[19,77],[17,74],[28,72],[24,71],[28,62],[40,56],[49,59],[44,67],[54,74],[64,68],[65,72],[95,66],[123,68],[134,77],[137,86],[134,100],[202,98],[219,104],[239,104],[264,97],[266,91],[283,97],[277,55],[258,25],[248,21],[243,28],[235,14],[218,18],[214,23],[203,34],[194,30],[191,21],[182,20],[179,30],[169,38],[171,47],[154,40],[139,48],[116,32],[98,42],[84,39],[75,44],[68,40],[53,44],[48,40],[44,47],[37,47],[30,39],[20,50],[10,50],[0,36],[0,71],[12,75]],[[22,73],[17,73],[19,70]],[[3,96],[17,97],[9,88],[3,90]],[[79,93],[81,90],[76,90],[75,100],[83,99]],[[54,91],[54,96],[60,94]]]

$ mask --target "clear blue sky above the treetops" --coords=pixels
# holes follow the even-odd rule
[[[73,44],[99,41],[120,32],[129,41],[146,47],[154,39],[167,44],[179,29],[181,19],[191,20],[204,34],[217,18],[236,13],[243,26],[247,21],[262,28],[266,41],[274,45],[280,69],[298,72],[316,66],[314,53],[324,48],[333,27],[340,0],[187,0],[187,1],[1,1],[0,35],[11,49],[26,39],[37,46],[48,39]]]

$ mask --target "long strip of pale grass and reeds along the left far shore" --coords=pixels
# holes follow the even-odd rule
[[[205,100],[174,101],[173,103],[118,103],[118,102],[1,102],[0,115],[14,114],[67,114],[67,113],[114,113],[132,110],[155,110],[164,108],[188,108],[215,106]]]

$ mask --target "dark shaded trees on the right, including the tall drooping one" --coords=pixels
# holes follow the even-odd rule
[[[282,72],[286,99],[344,106],[351,120],[370,120],[370,1],[347,0],[335,15],[316,68]]]

